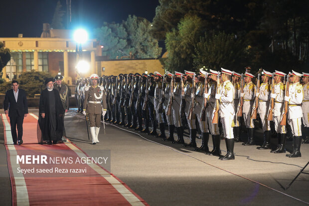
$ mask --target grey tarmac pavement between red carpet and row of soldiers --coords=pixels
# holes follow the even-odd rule
[[[29,112],[37,115],[38,110]],[[5,150],[2,124],[0,128],[0,150]],[[84,151],[110,150],[110,172],[151,206],[309,205],[309,175],[301,174],[284,190],[308,163],[309,144],[302,145],[301,158],[288,158],[285,153],[273,154],[270,150],[257,150],[257,146],[235,143],[235,160],[221,161],[122,126],[106,124],[104,135],[103,123],[100,143],[92,145],[85,119],[75,110],[66,113],[65,128],[68,139]],[[242,135],[245,139],[246,134]],[[261,129],[255,131],[255,137],[258,142],[263,141]],[[186,137],[185,142],[188,141]],[[276,146],[277,140],[272,139],[272,143]],[[198,139],[197,144],[200,145]],[[208,145],[211,150],[211,136]],[[287,148],[292,150],[292,142],[287,142]],[[225,155],[224,140],[221,140],[221,150]],[[0,171],[4,174],[6,158],[0,161]],[[309,166],[305,171],[309,171]],[[1,202],[11,205],[10,181],[8,176],[3,176],[0,177]]]

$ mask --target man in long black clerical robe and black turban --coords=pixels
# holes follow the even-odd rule
[[[38,118],[38,142],[62,143],[64,108],[59,92],[53,88],[53,78],[45,80],[46,89],[41,92]]]

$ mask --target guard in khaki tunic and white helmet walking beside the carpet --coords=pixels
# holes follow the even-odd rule
[[[91,86],[85,88],[85,101],[83,114],[88,114],[92,144],[99,143],[98,135],[101,126],[101,116],[106,113],[106,96],[104,87],[98,86],[99,76],[90,76]]]

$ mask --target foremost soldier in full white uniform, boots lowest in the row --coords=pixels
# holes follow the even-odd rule
[[[220,157],[220,160],[234,160],[234,115],[235,109],[233,107],[234,100],[234,86],[230,79],[232,71],[221,68],[221,80],[223,82],[220,88],[220,93],[215,95],[215,98],[220,101],[220,117],[222,122],[222,128],[225,137],[225,143],[227,148],[227,154],[224,157]]]

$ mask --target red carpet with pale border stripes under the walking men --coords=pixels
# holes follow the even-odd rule
[[[4,144],[7,152],[7,163],[12,185],[13,206],[27,205],[147,205],[147,203],[135,194],[125,183],[104,168],[96,164],[79,165],[80,169],[86,169],[87,174],[65,176],[55,173],[36,175],[18,173],[17,168],[31,169],[76,169],[76,165],[70,164],[16,164],[16,155],[46,155],[48,157],[72,157],[74,160],[87,157],[81,149],[72,143],[57,145],[37,144],[36,127],[37,117],[30,115],[23,123],[23,144],[13,145],[10,133],[9,118],[2,115],[4,126]],[[19,169],[19,170],[20,170]],[[103,177],[104,176],[104,177]]]

